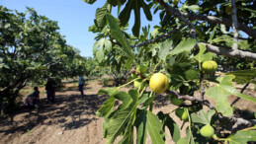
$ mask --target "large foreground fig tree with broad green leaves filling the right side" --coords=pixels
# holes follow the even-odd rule
[[[93,4],[96,0],[83,1]],[[118,18],[112,16],[113,7],[118,7]],[[166,127],[178,144],[256,141],[255,120],[237,117],[227,101],[234,95],[256,103],[255,98],[242,94],[248,84],[256,84],[255,7],[254,0],[106,0],[96,10],[95,25],[89,28],[97,34],[94,56],[100,66],[114,71],[131,69],[128,84],[134,82],[137,88],[120,91],[126,84],[99,91],[110,96],[97,111],[105,118],[107,143],[114,143],[118,136],[123,137],[120,143],[145,143],[149,133],[152,143],[161,144],[166,140]],[[129,35],[131,12],[134,24]],[[153,26],[153,32],[150,26],[143,27],[140,33],[140,15],[152,21],[156,12],[159,25]],[[202,63],[209,60],[229,72],[207,74]],[[168,78],[165,94],[156,94],[151,87],[157,85],[157,79],[151,81],[155,73]],[[160,79],[166,80],[159,77],[159,83]],[[233,82],[246,84],[241,93]],[[148,85],[151,91],[146,91]],[[195,97],[197,91],[200,96]],[[180,128],[170,116],[174,111],[152,112],[156,97],[164,96],[179,106],[175,113],[188,122],[186,137],[180,137]],[[114,108],[116,101],[122,102],[119,108]],[[212,110],[204,111],[203,106]]]

